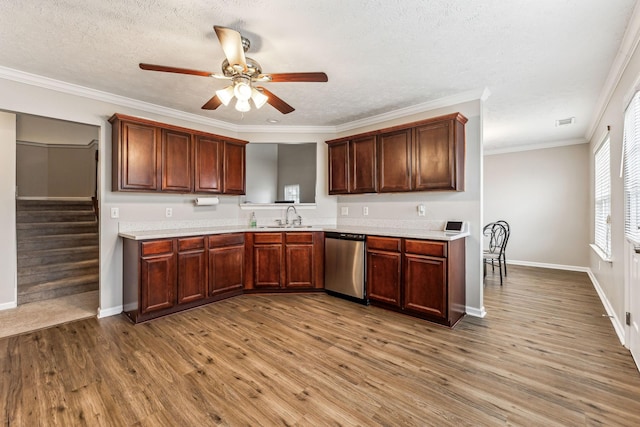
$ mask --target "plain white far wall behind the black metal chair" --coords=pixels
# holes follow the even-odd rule
[[[589,264],[588,144],[484,158],[484,221],[511,227],[507,261]]]

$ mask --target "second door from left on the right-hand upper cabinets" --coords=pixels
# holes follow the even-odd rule
[[[351,193],[375,193],[378,189],[376,141],[376,136],[372,135],[350,142]]]

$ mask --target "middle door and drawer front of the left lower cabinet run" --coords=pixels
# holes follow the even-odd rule
[[[178,239],[178,304],[207,296],[207,253],[205,238]]]

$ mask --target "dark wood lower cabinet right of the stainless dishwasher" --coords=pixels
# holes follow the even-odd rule
[[[374,305],[455,325],[465,314],[465,240],[369,236],[367,292]]]

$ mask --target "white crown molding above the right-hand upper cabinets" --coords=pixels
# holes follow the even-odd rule
[[[378,114],[376,116],[371,116],[360,120],[354,120],[349,123],[337,125],[335,127],[335,130],[336,133],[348,132],[350,130],[362,128],[365,126],[377,125],[389,120],[399,119],[402,117],[410,116],[412,114],[424,113],[438,108],[449,107],[451,105],[462,104],[465,102],[477,100],[485,101],[490,94],[491,92],[486,87],[479,90],[461,92],[456,95],[446,96],[444,98],[435,99],[433,101],[424,102],[422,104],[416,104],[410,107],[400,108],[399,110],[393,110],[386,113]]]

